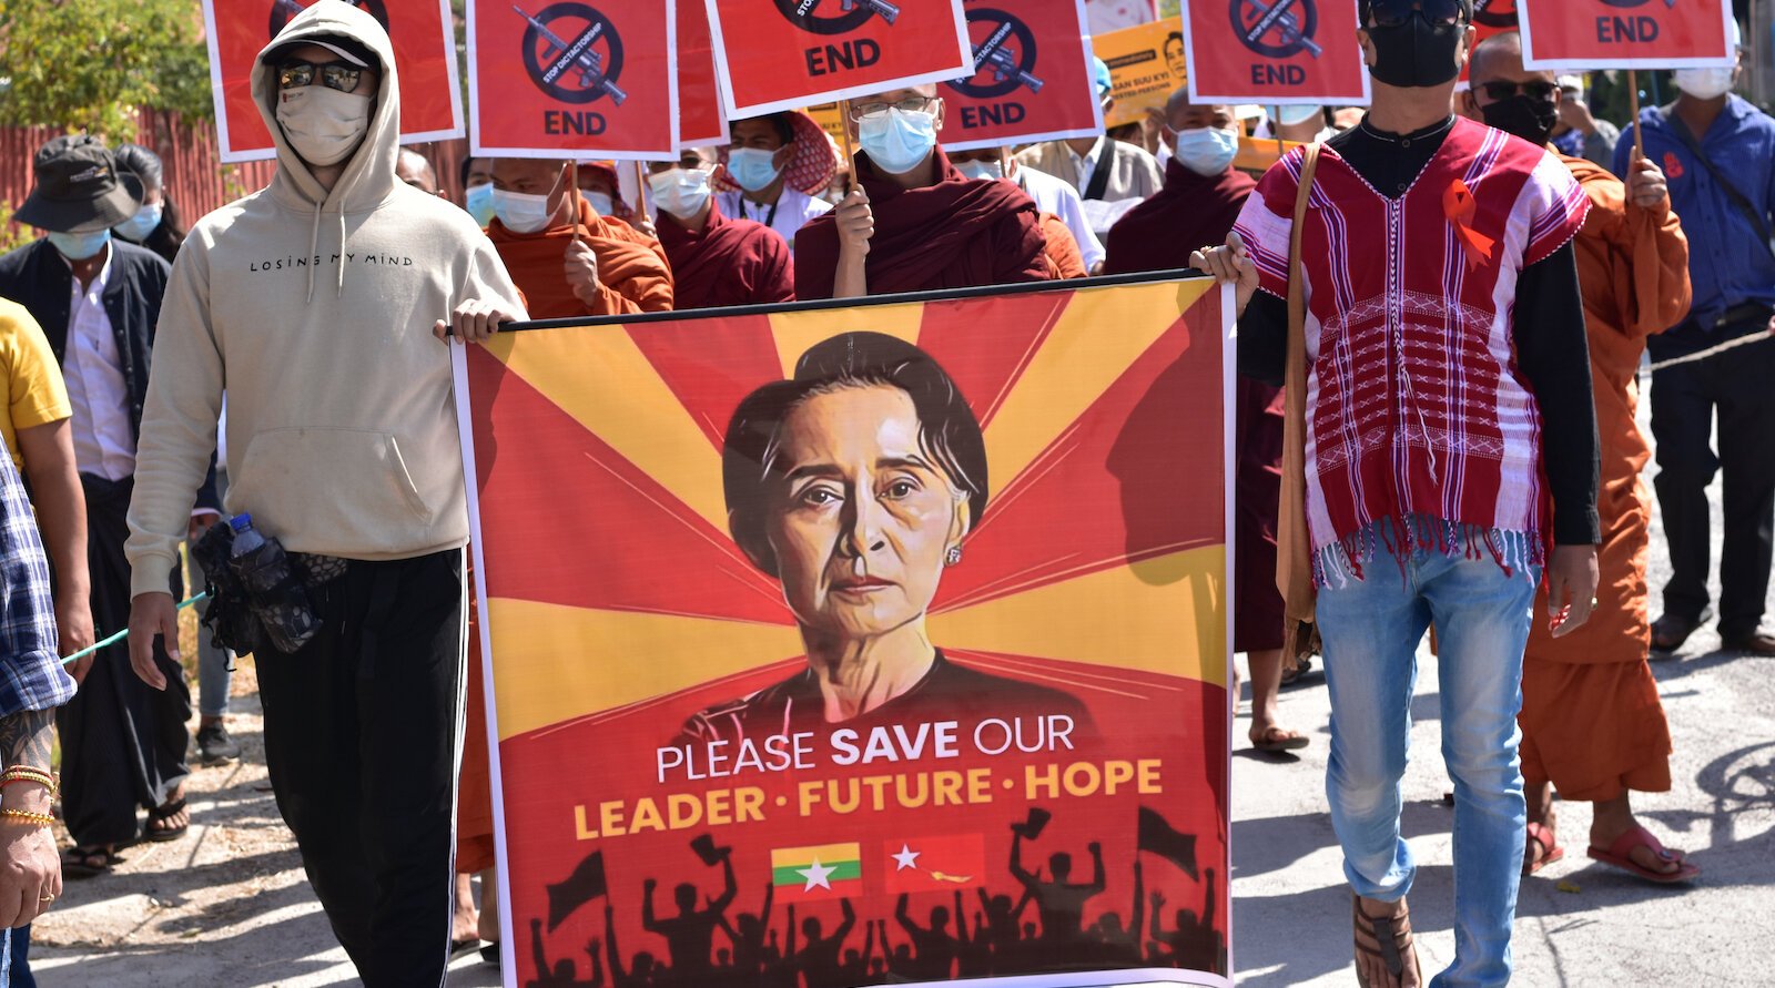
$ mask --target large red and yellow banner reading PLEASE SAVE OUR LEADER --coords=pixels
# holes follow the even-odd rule
[[[1230,986],[1228,314],[1054,284],[456,348],[506,984]]]

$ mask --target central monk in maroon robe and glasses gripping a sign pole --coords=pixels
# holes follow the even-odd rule
[[[1035,200],[969,179],[937,147],[937,87],[854,99],[859,188],[795,234],[795,298],[1040,282],[1053,275]]]

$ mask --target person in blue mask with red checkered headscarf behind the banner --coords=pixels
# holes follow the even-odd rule
[[[838,167],[832,140],[801,110],[733,121],[728,133],[733,144],[721,153],[715,206],[770,227],[795,247],[801,227],[832,209],[820,199]]]

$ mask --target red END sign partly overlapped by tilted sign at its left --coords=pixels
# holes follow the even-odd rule
[[[950,151],[1102,133],[1083,0],[966,0],[974,74],[950,80]]]

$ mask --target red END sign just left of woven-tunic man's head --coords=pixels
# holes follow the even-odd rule
[[[1367,105],[1356,0],[1184,0],[1195,103]]]

